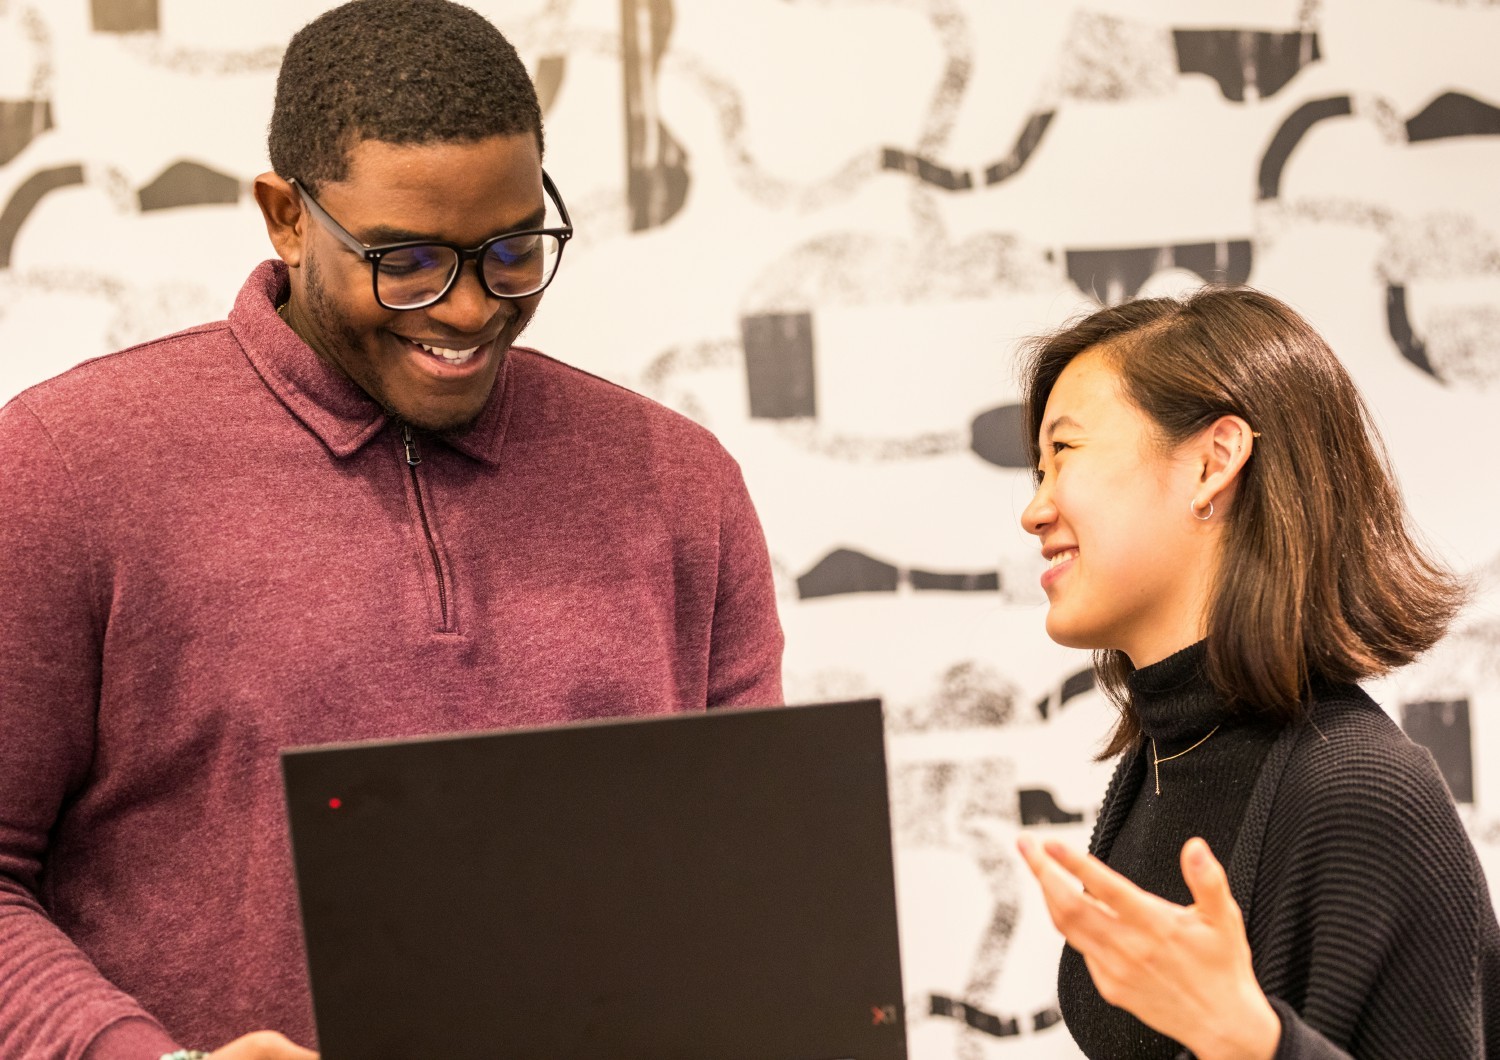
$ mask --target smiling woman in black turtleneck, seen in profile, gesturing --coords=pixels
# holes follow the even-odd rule
[[[1500,1056],[1484,874],[1354,684],[1462,589],[1332,351],[1256,291],[1136,301],[1034,343],[1026,411],[1047,633],[1120,709],[1090,855],[1022,840],[1084,1054]]]

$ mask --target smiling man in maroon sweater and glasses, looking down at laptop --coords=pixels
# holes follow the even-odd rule
[[[228,321],[0,411],[8,1059],[310,1056],[284,747],[782,700],[730,457],[512,346],[572,231],[504,37],[322,15],[270,156]]]

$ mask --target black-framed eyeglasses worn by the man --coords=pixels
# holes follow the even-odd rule
[[[393,310],[424,309],[441,301],[453,289],[464,262],[471,259],[478,282],[496,298],[537,294],[552,282],[562,259],[562,246],[573,238],[573,222],[546,171],[542,174],[542,187],[556,204],[562,226],[502,232],[472,249],[435,240],[364,246],[318,205],[318,199],[300,181],[294,178],[288,183],[324,228],[370,264],[375,301]]]

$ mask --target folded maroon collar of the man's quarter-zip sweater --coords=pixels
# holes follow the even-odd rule
[[[240,288],[234,309],[230,310],[230,328],[282,405],[322,439],[334,456],[352,456],[394,417],[346,375],[318,357],[280,318],[276,306],[286,298],[288,288],[288,271],[282,261],[273,258],[261,262]],[[512,361],[507,351],[495,376],[495,388],[474,423],[434,436],[476,460],[498,463],[510,420]]]

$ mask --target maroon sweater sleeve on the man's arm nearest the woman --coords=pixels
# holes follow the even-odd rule
[[[738,465],[724,454],[718,577],[708,655],[708,706],[776,706],[782,691],[782,621],[765,532]]]

